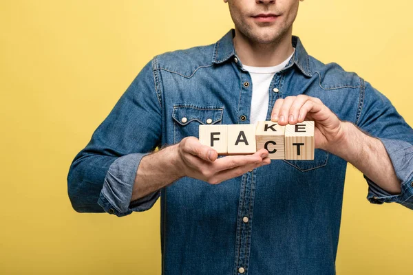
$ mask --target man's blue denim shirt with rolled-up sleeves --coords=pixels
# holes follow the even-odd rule
[[[157,146],[198,137],[208,119],[249,124],[253,87],[234,34],[145,65],[74,158],[67,176],[72,206],[122,217],[160,197],[163,274],[335,274],[347,162],[327,151],[315,149],[310,161],[272,160],[218,185],[183,177],[130,203],[140,160]],[[292,43],[293,58],[268,87],[266,120],[278,98],[320,98],[341,120],[379,138],[390,155],[401,194],[365,176],[368,201],[413,209],[412,128],[370,83],[309,56],[297,36]]]

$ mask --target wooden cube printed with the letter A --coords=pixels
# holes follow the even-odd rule
[[[257,152],[255,124],[228,125],[228,154],[253,154]]]

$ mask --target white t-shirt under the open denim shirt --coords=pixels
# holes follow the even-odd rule
[[[251,80],[253,82],[253,97],[251,100],[250,113],[251,124],[255,124],[257,121],[266,120],[269,100],[268,92],[271,80],[273,80],[273,76],[277,72],[286,67],[290,58],[293,57],[293,54],[291,54],[283,63],[273,67],[251,67],[243,65],[243,68],[251,75]]]

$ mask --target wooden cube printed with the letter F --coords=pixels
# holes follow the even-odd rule
[[[218,154],[226,154],[226,148],[228,146],[227,128],[228,125],[224,124],[200,125],[199,140],[202,144],[214,148]]]

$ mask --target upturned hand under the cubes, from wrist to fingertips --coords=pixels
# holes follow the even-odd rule
[[[251,155],[227,155],[218,158],[217,151],[201,144],[196,137],[184,137],[175,146],[179,176],[201,179],[209,184],[220,184],[226,179],[238,177],[253,168],[271,163],[268,151],[264,148]]]

